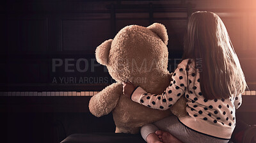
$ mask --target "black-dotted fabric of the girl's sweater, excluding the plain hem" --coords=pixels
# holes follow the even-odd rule
[[[241,105],[241,97],[205,99],[200,90],[200,72],[195,72],[196,70],[198,69],[190,68],[190,66],[178,66],[173,72],[173,81],[162,94],[143,93],[143,97],[138,98],[136,102],[150,108],[167,110],[180,97],[185,96],[188,121],[191,117],[193,118],[191,121],[198,120],[202,124],[234,128],[236,124],[235,107]]]

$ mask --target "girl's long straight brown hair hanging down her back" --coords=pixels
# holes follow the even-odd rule
[[[227,29],[215,13],[197,11],[191,15],[182,59],[202,62],[198,71],[206,99],[236,96],[247,86]]]

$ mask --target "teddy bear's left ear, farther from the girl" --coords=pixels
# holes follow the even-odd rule
[[[111,47],[112,39],[104,41],[95,50],[95,56],[98,63],[102,65],[108,64],[109,50]]]

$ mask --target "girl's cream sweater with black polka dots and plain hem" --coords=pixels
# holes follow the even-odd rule
[[[131,95],[132,101],[152,109],[167,110],[184,95],[188,100],[188,116],[180,117],[180,123],[206,135],[230,139],[236,126],[235,112],[242,103],[241,94],[227,99],[206,100],[200,90],[200,72],[191,59],[178,65],[172,79],[162,94],[147,93],[137,87]]]

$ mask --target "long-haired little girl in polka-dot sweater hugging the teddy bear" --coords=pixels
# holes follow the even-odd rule
[[[152,109],[167,110],[184,94],[185,117],[170,116],[141,128],[147,142],[228,142],[236,109],[246,88],[244,74],[218,15],[197,11],[188,22],[183,60],[162,94],[150,94],[131,82],[125,96]],[[162,130],[162,131],[157,131]],[[157,132],[156,132],[157,131]],[[164,131],[164,132],[163,132]]]

